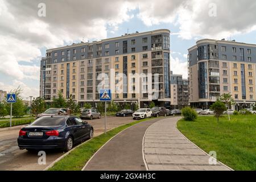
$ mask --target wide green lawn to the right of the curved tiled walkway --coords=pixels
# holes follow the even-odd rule
[[[217,119],[181,119],[177,128],[205,152],[216,151],[217,160],[234,170],[256,170],[256,116],[231,115]]]

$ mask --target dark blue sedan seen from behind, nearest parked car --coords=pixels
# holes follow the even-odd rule
[[[93,138],[93,127],[79,117],[47,116],[36,119],[19,131],[20,150],[63,149],[69,151],[74,144]]]

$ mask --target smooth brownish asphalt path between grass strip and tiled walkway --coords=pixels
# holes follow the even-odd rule
[[[142,140],[147,128],[159,121],[152,119],[119,133],[97,152],[85,171],[145,171]]]

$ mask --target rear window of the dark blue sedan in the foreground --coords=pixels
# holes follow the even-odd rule
[[[65,119],[63,117],[47,117],[38,118],[36,121],[31,123],[31,126],[64,126]]]

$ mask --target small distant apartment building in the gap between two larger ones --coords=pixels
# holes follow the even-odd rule
[[[188,79],[170,73],[171,109],[182,109],[189,105]]]

